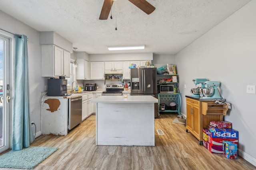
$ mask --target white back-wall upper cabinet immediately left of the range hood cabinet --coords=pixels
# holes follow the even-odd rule
[[[90,62],[90,80],[104,80],[104,62]]]

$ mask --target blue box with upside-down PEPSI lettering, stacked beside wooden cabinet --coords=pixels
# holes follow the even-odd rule
[[[226,139],[238,139],[238,131],[235,129],[220,129],[209,127],[209,137],[213,138],[226,138]]]

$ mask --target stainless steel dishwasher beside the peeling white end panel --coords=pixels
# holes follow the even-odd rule
[[[82,122],[82,96],[68,99],[68,130]]]

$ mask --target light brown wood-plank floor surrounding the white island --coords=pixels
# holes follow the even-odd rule
[[[252,170],[255,166],[239,157],[228,160],[212,154],[172,123],[176,114],[155,119],[155,147],[96,146],[95,120],[85,120],[66,136],[42,135],[31,146],[58,147],[35,170]],[[161,129],[164,135],[158,135]],[[0,168],[12,170],[9,168]],[[17,169],[13,169],[17,170]]]

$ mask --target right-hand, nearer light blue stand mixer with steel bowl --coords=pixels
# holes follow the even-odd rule
[[[202,93],[204,94],[203,98],[214,98],[221,99],[220,92],[218,87],[220,82],[218,81],[206,81],[204,82],[204,88],[202,88]]]

